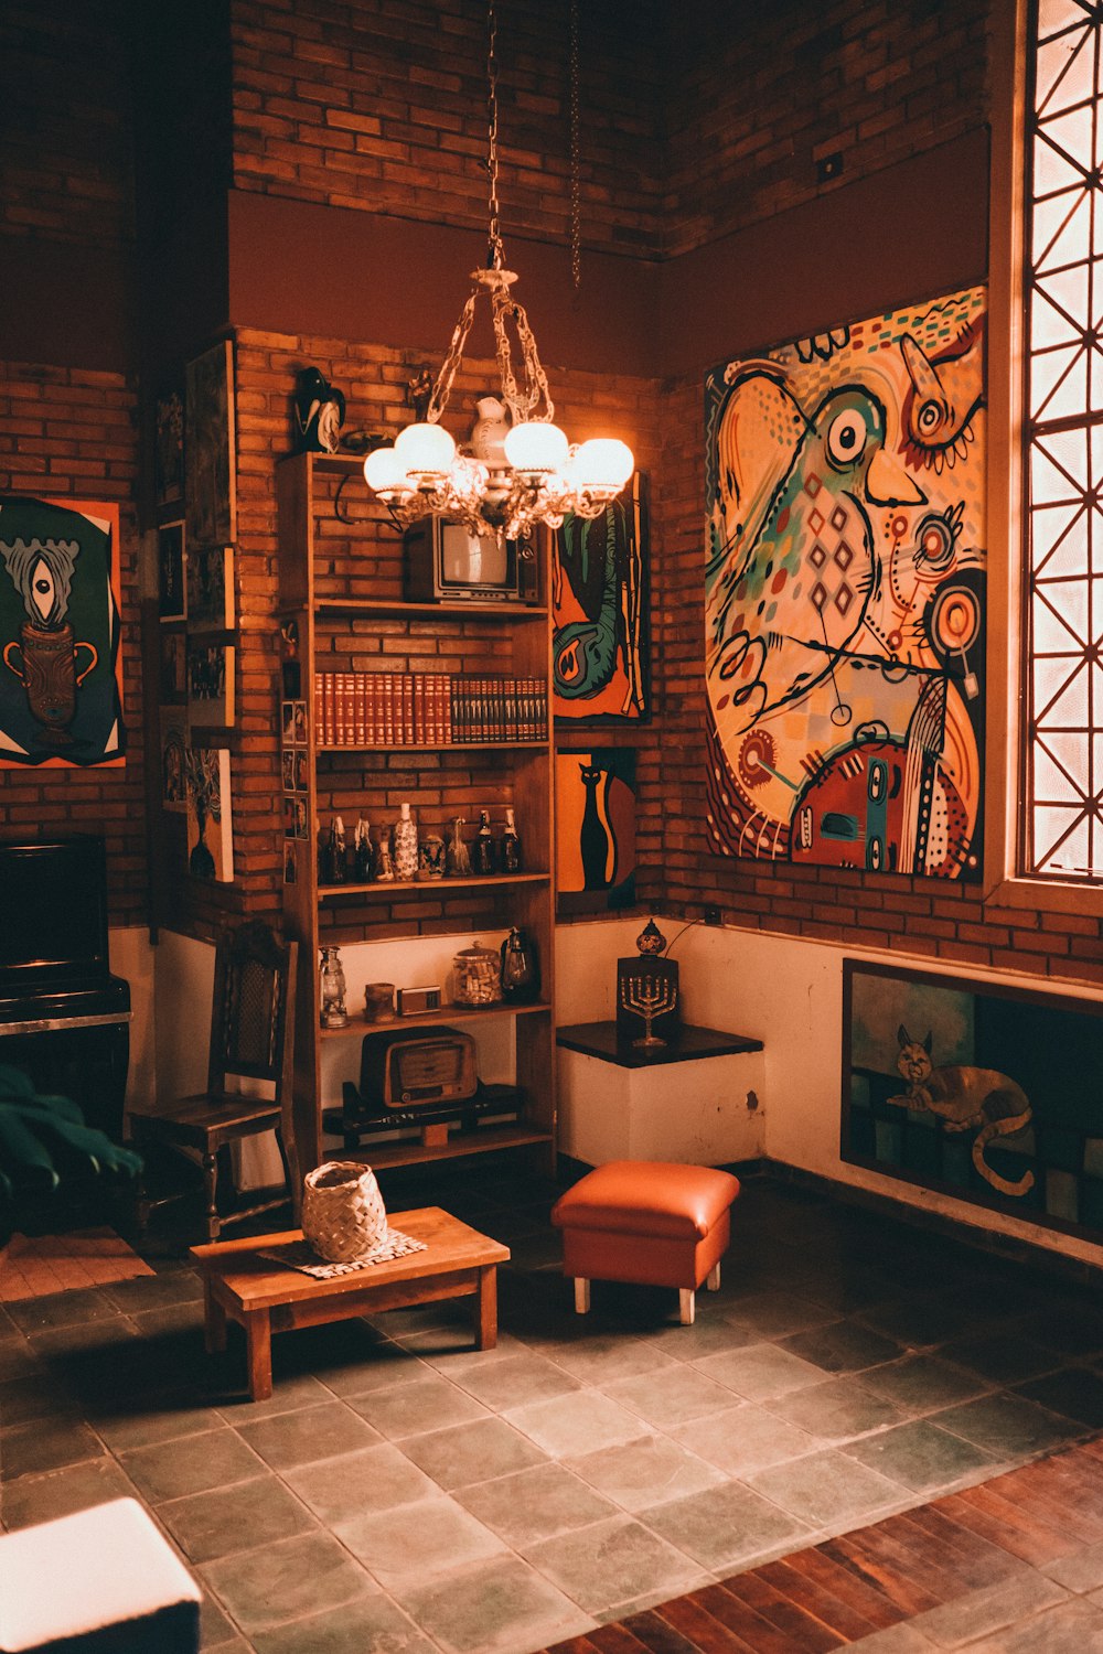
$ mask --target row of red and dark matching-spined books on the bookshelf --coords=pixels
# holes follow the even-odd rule
[[[547,685],[450,672],[318,672],[319,746],[546,741]]]

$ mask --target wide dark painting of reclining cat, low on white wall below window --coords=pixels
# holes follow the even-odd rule
[[[843,961],[842,1158],[1103,1239],[1103,1004]]]

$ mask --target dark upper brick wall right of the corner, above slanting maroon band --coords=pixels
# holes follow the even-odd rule
[[[989,10],[987,0],[681,7],[666,40],[663,251],[706,245],[984,124]],[[820,185],[817,162],[833,154],[843,170]]]

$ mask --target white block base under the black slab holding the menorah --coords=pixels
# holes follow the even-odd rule
[[[762,1153],[761,1049],[625,1067],[615,1055],[572,1049],[567,1040],[579,1032],[561,1030],[564,1154],[587,1166],[609,1159],[726,1166]],[[747,1107],[751,1095],[754,1107]]]

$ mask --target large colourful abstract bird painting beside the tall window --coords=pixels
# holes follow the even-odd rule
[[[706,377],[716,853],[981,877],[984,339],[971,288]]]

